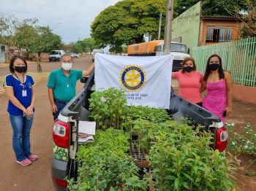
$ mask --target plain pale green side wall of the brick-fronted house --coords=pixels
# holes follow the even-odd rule
[[[200,9],[201,2],[199,1],[173,20],[172,39],[180,38],[181,42],[187,44],[189,48],[197,47],[200,28]]]

